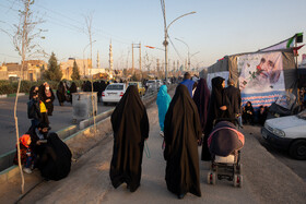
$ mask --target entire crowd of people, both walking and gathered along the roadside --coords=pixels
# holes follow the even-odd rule
[[[165,180],[167,189],[178,199],[188,192],[201,196],[198,146],[202,146],[201,160],[211,160],[208,136],[215,121],[235,119],[233,122],[236,123],[236,119],[243,118],[244,122],[254,123],[251,103],[247,103],[242,110],[239,89],[231,80],[227,84],[225,88],[225,80],[214,77],[210,91],[204,79],[195,80],[185,73],[173,98],[166,85],[162,85],[158,91],[156,104],[160,134],[164,139]],[[98,96],[106,86],[105,81],[93,83]],[[84,82],[82,89],[91,92],[91,82]],[[60,82],[57,89],[60,106],[63,101],[72,103],[71,94],[75,92],[74,83],[69,87]],[[20,147],[25,172],[31,173],[32,169],[38,168],[44,178],[59,180],[70,171],[71,152],[56,133],[48,133],[48,117],[52,116],[54,100],[55,95],[47,83],[31,88],[28,118],[32,125],[20,137]],[[262,124],[267,117],[266,107],[260,107],[257,116],[257,121]],[[111,184],[118,188],[127,183],[127,188],[134,192],[141,181],[142,155],[150,130],[146,109],[136,86],[128,86],[110,120],[114,131],[109,172]],[[242,123],[238,124],[242,127]]]

